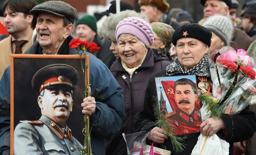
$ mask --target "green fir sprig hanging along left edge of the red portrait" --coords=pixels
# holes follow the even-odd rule
[[[156,104],[154,105],[153,111],[156,117],[157,127],[163,129],[165,132],[165,136],[170,138],[174,151],[176,151],[177,153],[184,151],[185,145],[181,143],[181,141],[183,141],[183,138],[177,137],[174,134],[174,128],[169,119],[167,119],[166,113],[161,113],[160,111],[157,97],[154,97],[154,100]]]

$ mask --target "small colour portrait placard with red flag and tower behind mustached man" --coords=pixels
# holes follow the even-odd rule
[[[177,135],[200,132],[202,123],[196,76],[155,78],[161,113],[165,113]]]

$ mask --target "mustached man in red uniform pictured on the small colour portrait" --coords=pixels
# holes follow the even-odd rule
[[[177,110],[167,115],[175,127],[175,133],[186,134],[200,132],[202,123],[200,109],[196,109],[195,102],[198,100],[197,88],[191,79],[181,78],[175,81],[174,98]]]

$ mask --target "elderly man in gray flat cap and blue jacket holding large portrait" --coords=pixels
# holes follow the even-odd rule
[[[74,38],[71,33],[77,10],[62,1],[48,1],[35,6],[31,11],[37,17],[36,41],[25,54],[77,54],[77,50],[69,48],[69,42]],[[92,54],[90,58],[91,97],[83,99],[83,107],[74,111],[82,111],[90,115],[91,147],[94,155],[105,154],[105,138],[120,130],[125,119],[123,92],[109,69]],[[5,70],[0,80],[0,123],[8,124],[10,118],[10,67]],[[81,101],[82,102],[82,101]],[[8,106],[9,105],[9,106]],[[74,106],[75,108],[75,106]],[[82,110],[83,109],[83,110]],[[81,118],[83,118],[81,113]],[[83,141],[83,134],[79,131],[84,128],[83,120],[75,127],[77,139]],[[74,133],[73,127],[73,133]],[[1,132],[1,131],[0,131]],[[6,131],[7,132],[7,131]],[[8,131],[9,132],[9,131]]]

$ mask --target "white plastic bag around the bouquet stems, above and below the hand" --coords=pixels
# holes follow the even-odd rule
[[[211,111],[207,113],[205,105],[200,109],[202,121],[208,119]],[[202,133],[198,137],[198,141],[192,150],[191,155],[228,155],[229,143],[220,139],[216,134],[212,136],[204,136]]]

